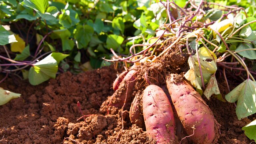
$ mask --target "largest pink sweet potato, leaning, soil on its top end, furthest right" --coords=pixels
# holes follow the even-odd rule
[[[173,105],[189,138],[196,144],[210,144],[215,138],[215,119],[199,93],[179,75],[166,80]]]

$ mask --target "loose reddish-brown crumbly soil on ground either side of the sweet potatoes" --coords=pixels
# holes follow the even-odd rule
[[[0,87],[21,93],[22,96],[0,106],[0,143],[154,143],[147,137],[144,128],[130,123],[127,110],[123,111],[123,122],[120,112],[116,115],[100,113],[101,104],[113,94],[112,83],[116,73],[113,67],[104,67],[78,75],[66,72],[55,80],[51,79],[38,86],[31,86],[28,82],[12,78],[5,80]],[[222,83],[219,87],[220,90],[226,89]],[[81,103],[84,115],[88,115],[85,121],[83,118],[76,120],[81,117],[77,101]],[[219,144],[250,143],[241,129],[250,120],[245,118],[239,121],[234,104],[213,98],[207,101],[207,104],[221,125]]]

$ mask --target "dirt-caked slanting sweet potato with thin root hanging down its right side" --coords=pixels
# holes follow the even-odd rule
[[[135,85],[136,71],[129,71],[120,84],[120,87],[112,95],[110,106],[122,107],[125,100],[128,103],[131,99],[132,89]],[[122,87],[121,87],[122,86]]]

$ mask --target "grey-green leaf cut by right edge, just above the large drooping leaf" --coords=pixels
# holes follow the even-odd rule
[[[256,59],[256,50],[246,50],[253,49],[253,45],[250,43],[240,43],[235,51],[245,50],[238,52],[241,56],[246,57],[248,59]]]

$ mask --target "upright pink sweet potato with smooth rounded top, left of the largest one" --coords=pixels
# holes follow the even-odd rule
[[[175,119],[164,91],[159,86],[149,85],[143,92],[142,105],[148,136],[157,144],[175,143]]]

